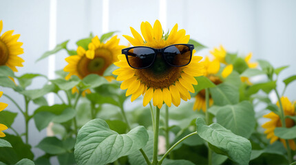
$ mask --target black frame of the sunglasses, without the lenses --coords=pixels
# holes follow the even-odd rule
[[[171,65],[170,63],[167,62],[167,58],[165,58],[164,51],[165,51],[165,49],[167,49],[167,47],[171,47],[171,46],[173,46],[173,45],[185,45],[185,46],[189,47],[189,50],[190,50],[190,60],[189,60],[189,62],[188,62],[187,64],[178,66],[178,65]],[[184,43],[173,44],[173,45],[169,45],[169,46],[167,46],[167,47],[163,47],[163,48],[161,48],[161,49],[155,49],[155,48],[153,48],[153,47],[146,47],[146,48],[149,48],[149,49],[151,49],[151,50],[154,50],[154,59],[153,59],[152,63],[151,63],[149,66],[147,66],[147,67],[132,67],[131,64],[129,63],[129,58],[128,58],[129,55],[127,54],[127,53],[129,52],[129,50],[131,50],[131,49],[134,49],[134,48],[137,48],[137,47],[145,47],[145,46],[127,47],[127,48],[121,50],[121,53],[122,53],[122,54],[125,54],[125,58],[127,58],[127,63],[129,64],[129,67],[132,67],[132,68],[134,68],[134,69],[146,69],[146,68],[148,68],[148,67],[151,67],[151,65],[154,64],[154,61],[155,61],[155,59],[156,59],[156,55],[157,55],[157,54],[161,54],[162,57],[165,59],[165,62],[166,62],[168,65],[172,66],[172,67],[184,67],[184,66],[186,66],[186,65],[189,65],[189,63],[191,62],[192,52],[193,52],[193,50],[194,50],[194,45],[193,45],[193,44],[184,44]]]

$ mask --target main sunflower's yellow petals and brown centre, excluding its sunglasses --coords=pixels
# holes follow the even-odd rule
[[[178,30],[178,24],[174,25],[169,32],[169,36],[162,34],[160,21],[156,20],[152,27],[148,22],[140,25],[142,36],[131,28],[131,36],[126,36],[131,45],[154,47],[160,49],[178,43],[188,43],[190,36],[186,35],[185,30]],[[193,51],[194,53],[195,51]],[[133,69],[129,67],[125,55],[118,56],[119,62],[114,65],[120,67],[113,74],[118,75],[116,80],[123,81],[120,88],[127,89],[126,96],[131,95],[131,102],[140,95],[144,95],[143,105],[146,106],[153,99],[154,106],[162,107],[163,102],[171,107],[171,103],[178,107],[180,98],[187,101],[191,98],[189,91],[194,92],[192,85],[197,85],[195,76],[202,76],[203,66],[199,63],[201,56],[192,56],[191,63],[184,67],[167,66],[162,72],[156,72],[149,68]]]

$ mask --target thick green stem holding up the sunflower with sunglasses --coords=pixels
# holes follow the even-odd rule
[[[160,109],[156,106],[156,120],[155,120],[155,131],[154,131],[154,146],[153,146],[153,160],[152,164],[158,164],[158,133],[159,133],[159,118]]]

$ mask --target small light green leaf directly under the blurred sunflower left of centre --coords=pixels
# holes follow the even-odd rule
[[[98,76],[97,74],[89,74],[83,78],[82,82],[85,85],[84,89],[95,88],[108,83],[106,78]]]

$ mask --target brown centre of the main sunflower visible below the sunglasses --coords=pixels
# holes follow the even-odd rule
[[[136,69],[136,76],[141,82],[154,89],[169,87],[180,78],[181,73],[182,67],[171,67],[160,54],[158,54],[151,67]]]

